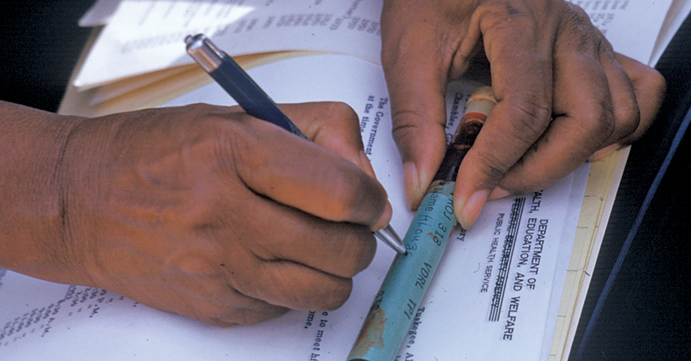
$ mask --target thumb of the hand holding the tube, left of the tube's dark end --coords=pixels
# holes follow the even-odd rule
[[[409,37],[417,41],[419,33]],[[382,43],[392,135],[403,161],[404,187],[411,209],[422,201],[446,149],[446,70],[441,56],[424,48],[391,45],[386,38]]]

